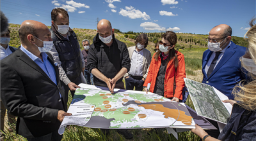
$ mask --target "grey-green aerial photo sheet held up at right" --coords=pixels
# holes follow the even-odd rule
[[[210,85],[184,78],[197,114],[226,124],[230,114]]]

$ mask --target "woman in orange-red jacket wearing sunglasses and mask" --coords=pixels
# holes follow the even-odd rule
[[[147,85],[151,83],[150,92],[179,102],[182,100],[182,89],[185,86],[183,78],[186,77],[186,72],[184,55],[174,49],[176,43],[177,36],[174,32],[167,31],[162,35],[162,41],[159,45],[160,51],[153,55],[144,83],[144,90],[147,92]],[[176,74],[175,77],[174,74]],[[176,87],[174,86],[174,79],[176,80]]]

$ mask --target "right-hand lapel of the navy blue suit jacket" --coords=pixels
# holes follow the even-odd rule
[[[217,72],[230,58],[231,56],[233,56],[233,54],[235,53],[235,49],[234,47],[231,47],[231,45],[226,49],[226,51],[224,52],[221,60],[219,61],[219,63],[217,64],[217,66],[215,67],[215,69],[213,70],[213,72],[211,73],[210,77],[215,74],[215,72]],[[208,78],[208,79],[209,79]]]

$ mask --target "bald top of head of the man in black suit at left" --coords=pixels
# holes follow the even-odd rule
[[[49,31],[48,27],[41,22],[37,22],[34,20],[25,20],[24,22],[22,22],[19,29],[20,41],[24,43],[27,41],[27,36],[29,34],[32,34],[38,37],[38,35],[42,31],[47,31],[47,30]]]

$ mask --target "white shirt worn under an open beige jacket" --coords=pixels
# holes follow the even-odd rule
[[[132,53],[131,68],[128,74],[132,76],[143,76],[143,49]]]

